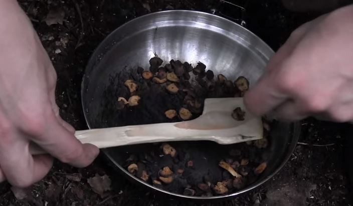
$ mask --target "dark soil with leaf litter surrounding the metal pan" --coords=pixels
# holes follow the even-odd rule
[[[318,15],[290,12],[277,0],[232,1],[245,7],[245,11],[219,0],[19,2],[57,70],[60,114],[76,129],[87,128],[80,85],[88,58],[107,34],[134,17],[165,9],[215,13],[246,25],[276,50],[295,27]],[[352,205],[341,124],[315,119],[302,123],[300,143],[280,172],[259,188],[235,199],[186,202],[156,195],[127,181],[98,157],[82,169],[57,161],[42,181],[28,189],[11,189],[9,184],[2,183],[0,205]],[[96,177],[94,181],[92,177]]]

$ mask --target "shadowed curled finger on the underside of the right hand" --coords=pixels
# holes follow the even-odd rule
[[[297,102],[287,100],[273,110],[273,115],[277,119],[295,121],[305,118],[308,114],[298,106]]]

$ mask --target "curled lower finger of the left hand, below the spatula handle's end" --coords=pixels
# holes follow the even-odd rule
[[[14,144],[1,145],[0,164],[4,176],[14,186],[28,187],[41,180],[53,165],[49,155],[32,156],[28,142],[15,136]]]

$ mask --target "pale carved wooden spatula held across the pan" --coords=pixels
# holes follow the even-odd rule
[[[233,110],[237,107],[245,111],[244,120],[232,117]],[[82,143],[92,143],[99,148],[182,140],[210,140],[232,144],[262,138],[263,124],[261,117],[246,110],[241,97],[207,98],[204,112],[193,120],[78,130],[75,136]],[[33,146],[31,153],[45,152]]]

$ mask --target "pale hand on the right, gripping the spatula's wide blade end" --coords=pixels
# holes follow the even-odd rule
[[[244,101],[257,115],[353,120],[353,5],[297,28]]]

